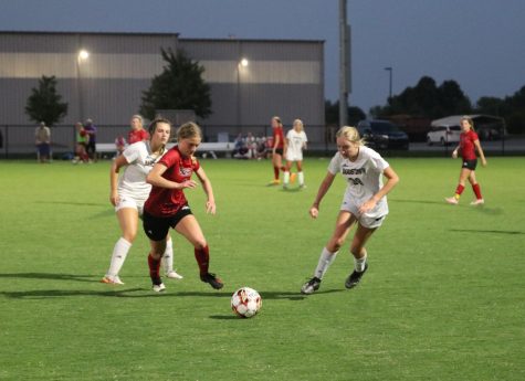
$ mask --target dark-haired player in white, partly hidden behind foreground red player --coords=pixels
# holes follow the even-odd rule
[[[137,235],[138,219],[143,215],[144,202],[151,190],[151,186],[146,182],[146,176],[166,152],[170,124],[165,119],[155,119],[149,126],[149,131],[151,135],[149,141],[130,145],[112,163],[109,201],[115,207],[122,236],[113,248],[109,268],[102,283],[124,284],[118,273]],[[118,172],[124,167],[124,173],[118,179]],[[182,278],[174,271],[174,247],[169,236],[162,257],[166,275],[170,278]]]

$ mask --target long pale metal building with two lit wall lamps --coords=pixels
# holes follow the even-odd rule
[[[307,126],[324,125],[323,41],[0,32],[0,128],[13,139],[17,134],[7,128],[34,125],[24,107],[42,75],[56,76],[57,91],[69,104],[61,125],[90,117],[97,126],[126,127],[139,109],[141,92],[162,71],[161,47],[183,49],[204,66],[213,114],[198,121],[211,139],[216,130],[235,134],[267,126],[273,115],[287,126],[297,117]]]

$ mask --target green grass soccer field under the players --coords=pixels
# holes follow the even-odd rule
[[[307,159],[307,189],[266,187],[269,161],[201,161],[186,191],[224,281],[201,283],[192,247],[174,233],[182,281],[150,289],[139,231],[120,273],[101,284],[119,229],[109,162],[0,161],[0,380],[524,380],[525,158],[487,158],[485,198],[453,194],[460,161],[389,159],[401,181],[369,244],[367,274],[344,286],[348,243],[321,289],[300,293],[344,193],[338,177],[317,220],[307,212],[328,159]],[[230,309],[260,292],[252,319]]]

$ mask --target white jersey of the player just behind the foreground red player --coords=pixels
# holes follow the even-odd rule
[[[124,150],[123,156],[128,166],[118,179],[118,195],[130,197],[141,207],[151,190],[151,184],[146,182],[146,177],[161,156],[153,155],[149,141],[134,142]]]

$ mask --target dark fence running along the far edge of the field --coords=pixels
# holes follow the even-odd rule
[[[204,141],[233,141],[241,134],[251,133],[255,137],[272,135],[271,126],[216,126],[202,125]],[[36,152],[34,145],[34,125],[0,125],[0,158],[11,159],[28,157]],[[286,128],[287,129],[287,128]],[[114,142],[117,136],[127,136],[128,125],[97,126],[97,142]],[[336,150],[335,134],[337,127],[306,126],[308,151],[330,155]],[[54,158],[65,157],[74,151],[75,129],[73,126],[57,125],[51,127],[51,147]],[[175,134],[174,134],[175,135]],[[428,146],[426,142],[410,142],[409,151],[389,151],[390,156],[449,156],[454,145]],[[496,140],[482,140],[487,155],[525,155],[525,136],[502,135]]]

